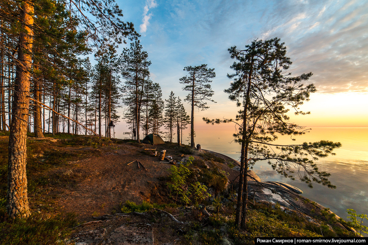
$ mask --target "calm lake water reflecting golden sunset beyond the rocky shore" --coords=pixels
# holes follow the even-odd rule
[[[240,145],[230,143],[234,130],[219,126],[208,126],[196,130],[196,144],[203,149],[216,151],[238,160]],[[262,181],[282,181],[300,188],[304,197],[318,202],[347,220],[346,209],[351,208],[358,214],[368,215],[368,128],[312,128],[309,133],[298,136],[296,142],[315,142],[330,140],[342,143],[336,149],[335,156],[328,156],[316,161],[319,170],[331,173],[329,180],[336,189],[329,189],[321,184],[308,188],[296,177],[290,180],[276,173],[266,161],[257,162],[254,171]],[[290,138],[280,138],[279,143],[292,142]]]

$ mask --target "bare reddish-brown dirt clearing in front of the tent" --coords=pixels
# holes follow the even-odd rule
[[[57,148],[55,145],[53,147]],[[96,151],[92,147],[72,147],[63,150],[65,149]],[[99,149],[102,151],[101,156],[68,162],[64,166],[49,169],[40,174],[48,177],[49,183],[29,196],[31,208],[42,212],[45,208],[50,209],[42,206],[42,203],[52,203],[51,209],[55,213],[75,213],[78,220],[91,221],[93,216],[120,212],[119,204],[124,204],[126,201],[138,204],[143,201],[167,203],[169,200],[165,192],[166,188],[163,188],[164,183],[160,178],[169,175],[168,170],[172,163],[160,161],[158,156],[152,154],[156,150],[159,154],[162,149],[166,149],[166,156],[172,156],[174,160],[180,161],[189,156],[178,153],[176,145],[153,146],[126,143],[114,144],[113,148]],[[202,151],[206,152],[206,150]],[[211,153],[215,154],[215,152]],[[195,154],[194,157],[199,157]],[[217,155],[237,164],[227,156]],[[135,160],[140,161],[146,169],[141,165],[138,168]],[[208,164],[211,165],[211,163]],[[238,171],[226,164],[216,164],[221,165],[229,181],[233,181],[238,176]],[[40,200],[40,198],[47,200]],[[33,203],[32,200],[37,201]]]

